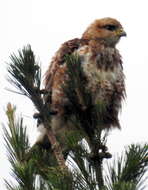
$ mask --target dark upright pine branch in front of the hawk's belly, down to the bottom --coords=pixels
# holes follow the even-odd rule
[[[99,101],[97,105],[92,103],[92,93],[86,88],[87,79],[81,66],[81,58],[77,55],[67,55],[65,56],[65,61],[68,80],[63,89],[71,103],[67,108],[67,113],[75,116],[72,122],[76,123],[74,121],[76,120],[77,123],[80,123],[80,129],[86,133],[84,138],[91,150],[91,154],[89,154],[90,159],[87,159],[87,162],[95,173],[96,184],[98,184],[99,188],[102,188],[104,186],[102,174],[103,159],[111,158],[111,154],[107,152],[107,148],[101,138],[101,126],[104,122],[102,114],[106,113],[105,105]],[[99,129],[98,126],[100,126]],[[80,163],[78,166],[85,176],[87,172],[85,172],[85,167],[82,167],[83,159],[80,156],[75,156],[74,160],[77,164]],[[85,178],[87,177],[85,176]]]

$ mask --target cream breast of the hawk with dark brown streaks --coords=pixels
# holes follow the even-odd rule
[[[88,46],[84,46],[77,53],[88,80],[86,88],[92,92],[95,103],[98,100],[110,101],[116,91],[123,93],[124,74],[117,50],[108,48],[94,56]]]

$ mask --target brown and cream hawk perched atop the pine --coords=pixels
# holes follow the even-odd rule
[[[67,54],[80,57],[87,80],[85,88],[91,92],[92,103],[96,105],[103,102],[106,107],[107,115],[104,114],[104,123],[100,127],[120,128],[118,113],[125,96],[125,85],[122,60],[116,44],[122,36],[126,36],[126,33],[119,21],[113,18],[98,19],[85,30],[81,38],[62,44],[53,57],[45,75],[45,89],[49,92],[45,96],[45,103],[49,102],[56,112],[52,116],[51,126],[61,144],[64,144],[67,132],[76,130],[70,122],[71,116],[65,117],[65,106],[69,105],[63,89],[63,84],[67,83],[67,64],[64,59]]]

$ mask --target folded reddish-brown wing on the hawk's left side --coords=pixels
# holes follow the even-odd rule
[[[64,56],[67,54],[72,54],[80,46],[84,45],[86,42],[82,39],[72,39],[60,47],[53,57],[51,64],[45,74],[45,90],[48,92],[44,99],[46,103],[54,104],[54,109],[56,105],[62,106],[62,99],[64,99],[64,93],[62,89],[62,83],[65,81],[65,70],[66,65],[64,63]]]

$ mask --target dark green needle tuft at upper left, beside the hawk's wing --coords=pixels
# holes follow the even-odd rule
[[[12,83],[20,93],[26,96],[32,96],[33,89],[40,89],[41,70],[35,61],[35,55],[28,45],[18,51],[18,55],[10,56],[11,63],[8,67],[8,73],[11,77],[8,81]]]

